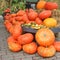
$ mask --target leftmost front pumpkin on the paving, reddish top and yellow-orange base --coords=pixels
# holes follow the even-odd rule
[[[21,50],[21,45],[13,38],[13,36],[9,36],[7,38],[8,48],[13,52],[18,52]]]

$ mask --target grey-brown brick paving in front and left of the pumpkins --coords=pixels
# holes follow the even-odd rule
[[[23,51],[14,53],[8,49],[7,37],[9,33],[6,31],[3,25],[3,19],[0,17],[0,60],[60,60],[60,52],[57,52],[55,56],[50,58],[42,58],[37,53],[29,55]]]

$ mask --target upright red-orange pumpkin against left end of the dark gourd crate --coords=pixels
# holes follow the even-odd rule
[[[22,27],[20,24],[16,24],[13,29],[12,36],[17,39],[22,34]]]

